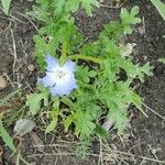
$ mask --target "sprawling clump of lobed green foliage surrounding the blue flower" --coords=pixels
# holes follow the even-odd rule
[[[57,124],[63,125],[65,131],[74,129],[84,146],[88,146],[92,136],[107,135],[102,122],[111,121],[118,134],[124,134],[130,121],[130,103],[143,112],[141,97],[134,92],[132,81],[140,79],[143,82],[145,75],[152,75],[152,67],[148,64],[134,64],[131,56],[123,56],[127,44],[122,48],[120,46],[121,37],[132,34],[132,25],[141,22],[136,16],[138,7],[131,11],[121,9],[120,19],[105,25],[98,40],[90,43],[84,43],[84,35],[73,18],[79,7],[91,16],[99,2],[36,0],[36,6],[29,13],[42,23],[38,34],[34,36],[34,56],[40,68],[46,69],[47,54],[62,65],[73,61],[76,63],[77,88],[69,95],[54,96],[48,88],[38,84],[38,91],[28,95],[26,106],[33,116],[41,110],[48,111],[51,122],[46,132],[54,131]],[[121,70],[127,75],[124,79],[120,76]]]

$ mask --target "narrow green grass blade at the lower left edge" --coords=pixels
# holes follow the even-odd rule
[[[0,120],[0,136],[4,141],[4,143],[15,153],[16,148],[13,144],[13,140],[10,136],[10,134],[7,132],[7,130],[3,128],[2,121]]]

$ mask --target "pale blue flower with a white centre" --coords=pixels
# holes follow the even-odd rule
[[[76,65],[72,61],[67,61],[63,66],[57,59],[51,55],[46,56],[46,76],[40,79],[47,87],[53,96],[69,95],[77,88],[75,79]]]

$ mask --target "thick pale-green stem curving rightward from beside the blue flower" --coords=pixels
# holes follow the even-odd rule
[[[87,56],[87,55],[81,55],[81,54],[69,55],[67,58],[68,59],[84,59],[84,61],[90,61],[97,64],[101,64],[101,61],[99,58]]]

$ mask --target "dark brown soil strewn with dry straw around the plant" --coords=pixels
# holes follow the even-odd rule
[[[35,87],[37,69],[32,53],[34,51],[33,35],[36,30],[23,15],[31,10],[33,3],[32,0],[13,0],[9,16],[0,11],[0,76],[3,75],[8,80],[8,87],[0,89],[0,98],[18,87],[22,87],[25,92]],[[109,3],[109,0],[103,2],[107,7]],[[111,153],[113,156],[110,156],[109,161],[105,161],[105,165],[165,164],[161,162],[165,161],[165,121],[152,112],[154,110],[156,113],[165,116],[165,65],[157,62],[158,58],[165,57],[165,38],[162,37],[165,34],[165,22],[150,0],[127,0],[122,7],[131,8],[135,4],[140,7],[143,24],[136,25],[133,35],[128,36],[127,41],[136,43],[133,52],[135,63],[150,62],[154,66],[154,75],[146,78],[139,90],[145,105],[150,107],[144,106],[148,118],[133,108],[130,110],[131,127],[128,140],[122,141],[116,135],[112,136],[107,146],[109,145],[109,148],[116,148],[120,153],[116,153],[118,158],[114,153]],[[87,18],[82,11],[77,13],[77,25],[88,41],[95,41],[105,24],[119,16],[120,9],[107,7],[97,10],[92,18]],[[34,22],[34,24],[37,26],[37,23]],[[69,155],[75,150],[73,144],[76,143],[70,134],[61,133],[61,130],[46,138],[42,131],[34,130],[34,133],[36,134],[35,140],[37,139],[46,145],[44,152],[42,148],[33,147],[34,139],[31,133],[21,140],[23,157],[34,165],[96,165],[98,162],[98,158],[92,155],[87,156],[86,160]],[[63,140],[63,142],[57,140]],[[66,141],[69,141],[69,144]],[[56,144],[56,146],[48,147],[50,144]],[[14,158],[10,157],[10,152],[3,144],[1,146],[6,151],[2,155],[2,164],[14,165]],[[97,153],[97,150],[99,150],[98,143],[94,144],[91,153]],[[66,151],[68,154],[63,155]],[[54,153],[54,155],[45,153]]]

